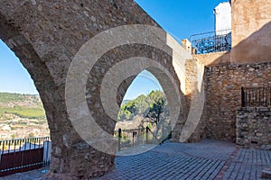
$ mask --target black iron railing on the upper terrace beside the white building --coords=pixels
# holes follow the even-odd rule
[[[231,49],[231,30],[210,31],[192,35],[193,54],[229,51]]]

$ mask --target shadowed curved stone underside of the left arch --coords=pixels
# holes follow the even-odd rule
[[[5,19],[5,16],[0,14],[0,39],[14,51],[14,54],[23,64],[23,67],[25,67],[33,78],[34,85],[40,93],[42,103],[45,108],[51,134],[53,134],[55,131],[55,128],[51,123],[53,112],[50,111],[51,108],[54,107],[54,102],[50,95],[51,92],[55,90],[53,81],[45,63],[42,62],[42,59],[39,58],[33,49],[32,44],[26,40],[22,34],[20,34],[19,30],[19,27],[15,27],[14,23]]]

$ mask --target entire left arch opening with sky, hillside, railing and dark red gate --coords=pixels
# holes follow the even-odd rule
[[[32,76],[1,39],[0,51],[0,176],[5,176],[49,166],[51,138]]]

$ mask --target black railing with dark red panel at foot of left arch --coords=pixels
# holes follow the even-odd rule
[[[0,140],[0,176],[49,166],[50,161],[49,137]]]

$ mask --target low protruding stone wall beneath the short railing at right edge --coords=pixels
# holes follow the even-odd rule
[[[271,150],[271,108],[239,108],[236,113],[237,145]]]

